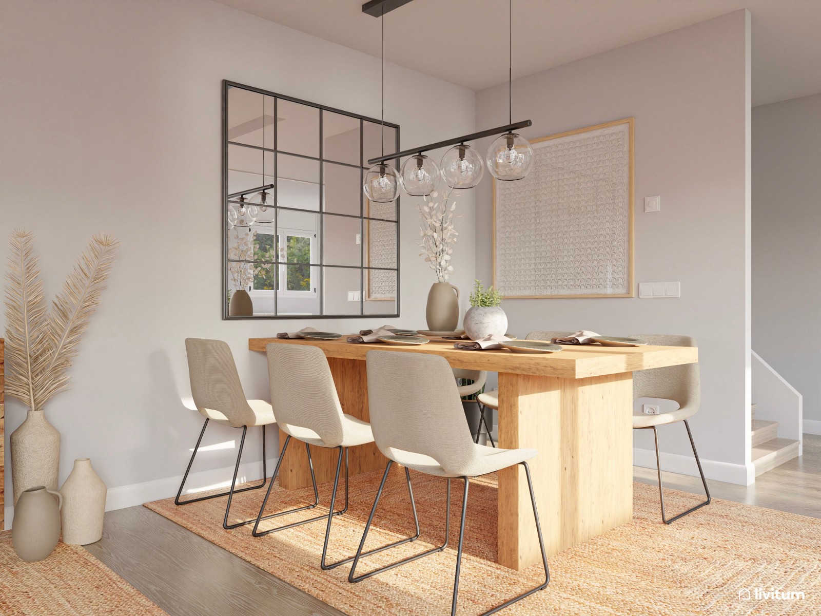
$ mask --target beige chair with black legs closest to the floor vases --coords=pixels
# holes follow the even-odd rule
[[[271,405],[264,400],[246,400],[245,393],[242,392],[240,375],[236,372],[236,364],[231,354],[231,349],[222,340],[205,340],[203,338],[186,338],[186,354],[188,355],[188,374],[191,382],[191,395],[197,410],[205,417],[203,429],[200,431],[200,438],[194,447],[194,453],[186,468],[186,474],[182,476],[180,490],[177,490],[177,498],[174,503],[186,505],[196,503],[200,500],[216,499],[219,496],[228,497],[225,508],[225,518],[222,520],[223,528],[236,528],[250,524],[254,520],[246,520],[236,524],[228,524],[228,512],[231,509],[231,499],[238,492],[246,490],[258,490],[265,485],[265,426],[273,424],[273,411]],[[205,428],[209,421],[216,421],[218,424],[230,425],[232,428],[242,428],[242,438],[240,447],[236,453],[236,466],[234,467],[234,477],[231,481],[231,490],[210,496],[200,496],[195,499],[181,500],[182,489],[186,485],[188,473],[194,458],[200,449],[200,443],[205,434]],[[252,485],[242,490],[234,490],[236,486],[236,475],[240,470],[240,458],[242,457],[242,446],[245,444],[245,433],[249,427],[262,426],[262,474],[263,480],[259,485]]]

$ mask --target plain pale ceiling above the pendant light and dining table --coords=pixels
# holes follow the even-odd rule
[[[364,0],[216,0],[370,55]],[[753,16],[753,104],[821,92],[821,0],[513,0],[513,77],[712,17]],[[415,0],[385,16],[385,59],[482,90],[507,80],[507,2]]]

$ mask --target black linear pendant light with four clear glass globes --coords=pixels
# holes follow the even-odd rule
[[[384,14],[399,8],[411,0],[370,0],[362,5],[362,12],[368,15],[377,16],[384,19]],[[404,149],[401,152],[386,155],[384,152],[384,142],[382,156],[369,159],[368,164],[374,165],[365,179],[365,194],[369,199],[374,192],[374,186],[380,182],[385,186],[383,196],[387,199],[390,189],[393,186],[393,176],[395,171],[386,164],[392,159],[401,159],[410,156],[401,167],[399,176],[401,185],[408,195],[423,196],[429,195],[436,190],[436,186],[441,177],[447,186],[451,188],[473,188],[479,184],[484,176],[484,161],[482,156],[466,141],[481,139],[483,137],[498,135],[498,138],[490,145],[485,157],[490,174],[498,180],[512,182],[521,180],[530,169],[533,168],[534,153],[530,143],[521,135],[514,132],[520,128],[531,126],[530,120],[513,122],[513,20],[512,20],[512,0],[508,0],[508,67],[507,67],[507,97],[508,97],[508,123],[505,126],[490,128],[486,131],[471,133],[454,137],[443,141],[438,141],[418,148]],[[382,44],[383,63],[383,100],[384,100],[384,26]],[[383,104],[384,122],[384,104]],[[442,162],[437,165],[432,159],[424,155],[432,149],[438,149],[452,145],[442,157]],[[398,195],[398,191],[397,195]],[[393,199],[396,199],[394,195]],[[393,200],[391,199],[391,200]],[[387,202],[387,201],[383,201]]]

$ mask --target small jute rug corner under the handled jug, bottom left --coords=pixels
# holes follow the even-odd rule
[[[3,616],[165,616],[144,595],[79,545],[57,544],[48,559],[25,563],[0,532]]]

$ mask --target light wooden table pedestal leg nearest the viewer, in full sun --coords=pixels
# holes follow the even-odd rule
[[[528,461],[548,556],[630,522],[633,378],[499,374],[499,446],[534,448]],[[541,560],[524,469],[499,472],[498,562]]]

